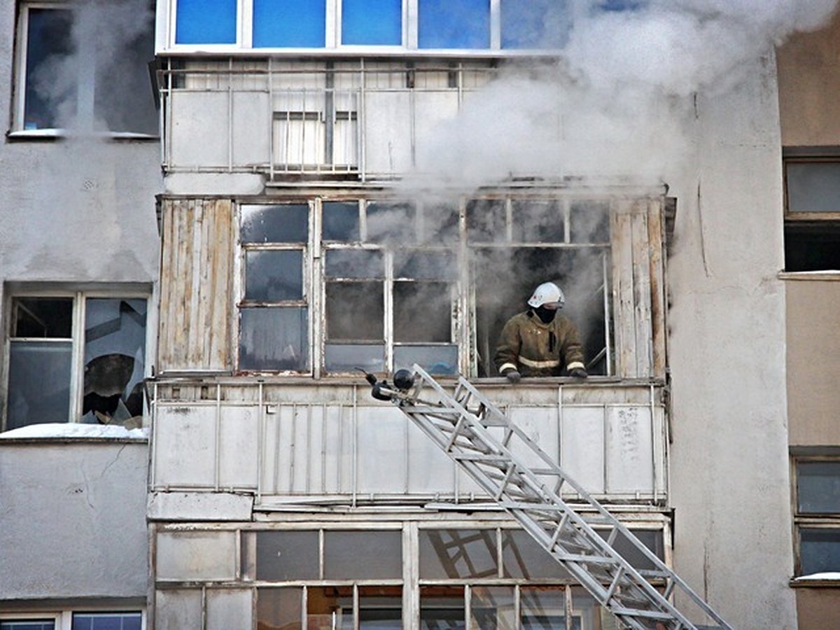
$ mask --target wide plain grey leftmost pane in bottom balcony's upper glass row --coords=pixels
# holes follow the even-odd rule
[[[318,580],[318,532],[257,532],[257,580]]]

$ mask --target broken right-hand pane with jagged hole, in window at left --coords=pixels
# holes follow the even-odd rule
[[[146,306],[143,299],[87,299],[82,422],[143,424]]]

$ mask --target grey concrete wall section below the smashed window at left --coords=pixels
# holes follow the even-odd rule
[[[147,452],[144,441],[0,441],[0,609],[146,595]]]

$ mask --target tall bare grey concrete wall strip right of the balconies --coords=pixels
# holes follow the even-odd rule
[[[675,568],[732,627],[795,627],[772,59],[698,95],[669,260]]]

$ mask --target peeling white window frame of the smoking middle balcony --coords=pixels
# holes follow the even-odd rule
[[[468,207],[470,207],[470,202],[474,200],[495,200],[496,203],[503,204],[505,209],[504,213],[504,221],[506,227],[504,228],[504,234],[501,234],[501,240],[495,239],[491,241],[475,241],[471,242],[469,240],[468,234]],[[530,239],[517,239],[516,236],[516,204],[517,202],[549,202],[554,203],[556,207],[560,208],[562,212],[562,236],[558,237],[561,240],[558,241],[541,241],[537,237],[530,237]],[[575,239],[574,231],[575,227],[572,225],[573,223],[573,215],[575,213],[574,204],[575,202],[603,202],[606,203],[605,200],[587,200],[587,199],[577,199],[570,198],[566,199],[562,194],[558,192],[543,192],[540,194],[530,194],[521,196],[517,192],[504,192],[499,193],[496,195],[487,195],[487,194],[480,194],[475,196],[469,197],[459,197],[459,201],[457,203],[453,202],[450,204],[449,211],[453,213],[453,221],[454,224],[451,227],[454,229],[454,234],[448,235],[448,240],[444,241],[435,241],[431,234],[427,234],[428,228],[426,227],[426,217],[428,213],[433,213],[438,208],[434,202],[423,204],[420,201],[412,201],[407,199],[402,199],[401,197],[393,197],[392,195],[381,195],[372,192],[357,192],[354,194],[347,193],[341,196],[328,196],[328,195],[319,195],[313,194],[307,198],[300,198],[300,197],[289,197],[287,199],[282,200],[271,200],[265,202],[238,202],[236,204],[236,223],[235,229],[237,230],[237,237],[236,241],[238,243],[237,251],[234,255],[234,277],[237,279],[238,286],[234,288],[235,291],[235,302],[237,307],[237,321],[239,322],[238,326],[238,334],[237,339],[238,342],[236,344],[235,350],[235,357],[234,357],[234,370],[238,373],[270,373],[270,374],[277,374],[277,375],[286,375],[286,376],[311,376],[316,379],[323,378],[324,376],[328,377],[346,377],[350,375],[358,375],[357,370],[328,370],[327,365],[327,353],[328,353],[328,313],[327,313],[327,305],[328,305],[328,296],[327,296],[327,288],[330,283],[330,277],[328,276],[328,255],[331,251],[339,250],[339,249],[348,249],[348,250],[361,250],[361,251],[381,251],[382,252],[382,260],[384,261],[385,269],[384,274],[381,279],[377,279],[377,281],[382,282],[383,292],[384,295],[382,296],[383,299],[383,331],[384,331],[384,344],[385,344],[385,356],[384,356],[384,365],[381,370],[371,370],[375,372],[392,372],[397,367],[402,367],[402,365],[396,365],[395,356],[396,354],[400,354],[399,348],[406,347],[410,348],[412,345],[414,346],[424,346],[424,347],[432,347],[436,345],[441,346],[454,346],[454,353],[457,359],[457,365],[454,368],[452,374],[466,374],[469,373],[473,377],[477,377],[480,375],[491,375],[491,372],[488,370],[492,370],[491,361],[492,356],[484,356],[487,354],[487,351],[484,351],[484,354],[481,354],[481,349],[479,348],[479,341],[476,339],[476,333],[478,329],[481,327],[482,324],[478,323],[477,321],[477,313],[483,308],[486,309],[487,307],[480,306],[478,302],[476,302],[475,296],[475,287],[471,288],[469,291],[466,290],[465,287],[472,286],[470,284],[471,279],[475,279],[475,264],[470,263],[467,265],[467,260],[473,259],[475,255],[478,255],[479,252],[491,252],[492,250],[503,249],[508,252],[522,252],[523,255],[530,253],[530,255],[534,255],[538,253],[537,250],[553,250],[558,253],[558,255],[568,255],[568,256],[577,256],[577,255],[586,255],[587,252],[591,253],[594,252],[595,258],[594,260],[599,269],[597,270],[598,275],[600,276],[601,286],[598,291],[602,292],[601,297],[597,297],[597,301],[601,302],[601,316],[603,316],[603,323],[602,323],[602,333],[601,333],[601,341],[604,344],[603,349],[598,348],[597,356],[601,356],[603,354],[606,359],[604,360],[605,370],[602,370],[604,375],[610,376],[615,373],[615,351],[614,351],[614,336],[615,332],[612,329],[613,326],[613,318],[614,315],[612,313],[612,301],[614,297],[612,296],[612,290],[610,287],[612,286],[612,278],[610,276],[610,269],[612,266],[612,241],[614,237],[612,234],[607,232],[606,240],[603,242],[597,241],[595,239],[581,239],[580,241]],[[323,204],[326,202],[344,202],[344,203],[358,203],[359,204],[359,234],[357,234],[357,238],[350,238],[349,240],[327,240],[323,238]],[[308,223],[308,238],[306,244],[291,244],[291,243],[244,243],[242,240],[242,236],[240,234],[242,229],[242,209],[243,207],[253,207],[253,206],[281,206],[284,204],[289,205],[297,205],[297,204],[307,204],[309,208],[309,223]],[[412,231],[414,234],[413,240],[410,242],[400,242],[397,246],[389,245],[384,241],[379,241],[374,239],[370,234],[370,226],[368,225],[367,220],[367,213],[368,208],[371,204],[381,204],[385,203],[390,205],[399,205],[400,203],[407,203],[414,208],[413,217],[412,217]],[[601,207],[601,212],[606,213],[607,223],[610,222],[611,210],[609,209],[608,205]],[[610,228],[607,226],[607,230]],[[309,339],[307,340],[307,352],[309,354],[309,368],[308,370],[286,370],[286,369],[277,369],[277,370],[268,370],[268,369],[254,369],[249,367],[243,367],[241,358],[244,354],[244,347],[243,347],[243,332],[244,329],[242,327],[242,313],[244,312],[245,308],[249,307],[283,307],[285,302],[272,302],[272,303],[260,303],[255,304],[253,302],[249,302],[245,298],[245,291],[248,279],[246,277],[247,270],[246,270],[246,256],[250,251],[255,250],[273,250],[273,249],[302,249],[302,260],[303,260],[303,282],[304,282],[304,298],[303,303],[304,306],[307,308],[307,332],[309,335]],[[451,328],[450,328],[450,336],[449,341],[428,341],[428,342],[421,342],[421,341],[405,341],[405,340],[397,340],[395,336],[395,326],[394,318],[397,313],[397,309],[394,305],[394,286],[396,283],[402,283],[403,280],[401,278],[397,278],[395,275],[395,265],[394,265],[394,258],[395,254],[405,253],[405,252],[440,252],[440,251],[448,251],[451,253],[455,264],[457,265],[458,269],[454,271],[454,274],[447,278],[440,279],[441,282],[446,282],[449,284],[449,291],[450,291],[450,300],[449,304],[451,307]],[[483,254],[486,255],[486,254]],[[366,277],[366,276],[365,276]],[[401,276],[402,277],[402,276]],[[417,280],[423,281],[423,278],[418,278]],[[428,279],[427,279],[428,280]],[[606,290],[605,290],[606,289]],[[529,290],[526,288],[525,290]],[[527,297],[527,296],[526,296]],[[291,304],[291,302],[289,302]],[[295,302],[297,305],[297,302]],[[514,312],[519,312],[525,309],[524,306],[524,298],[522,300],[522,305],[517,303],[515,306],[512,307]],[[511,315],[513,312],[510,313]],[[576,321],[575,316],[571,316],[573,322],[577,325],[580,330],[581,338],[584,335],[584,328],[585,325],[582,322]],[[592,328],[593,330],[595,328]],[[490,330],[486,331],[490,333]],[[349,340],[349,344],[352,344],[353,340]],[[583,342],[584,339],[581,339]],[[357,343],[362,343],[362,340],[356,340]],[[366,342],[366,344],[370,344],[370,340]],[[492,344],[492,340],[491,340]],[[410,352],[410,350],[407,350]],[[593,357],[595,356],[595,350],[591,349],[589,353]],[[479,356],[481,355],[481,360],[479,360]],[[596,357],[597,359],[597,357]],[[593,359],[592,362],[595,363],[596,359]],[[599,360],[600,361],[600,360]],[[408,365],[407,367],[411,367]],[[483,374],[482,374],[483,372]],[[601,374],[601,371],[598,372]],[[445,374],[444,374],[445,376]]]

